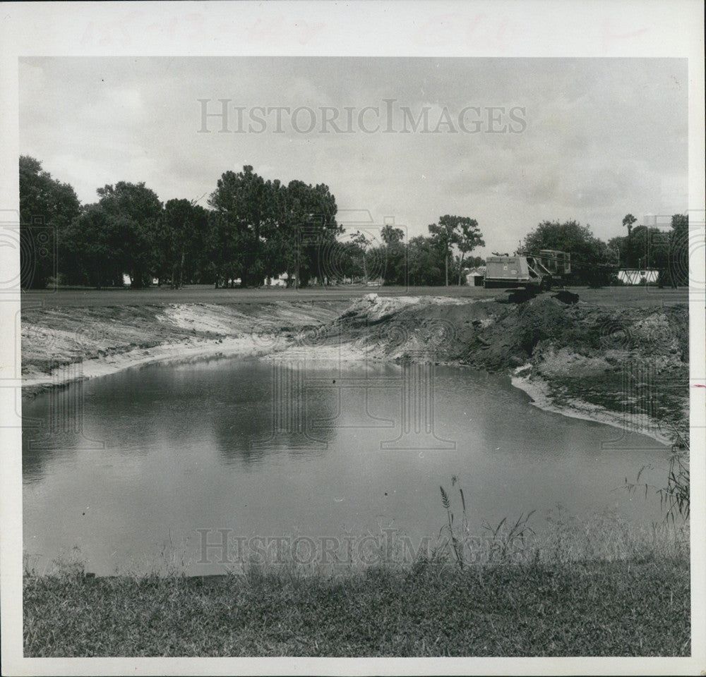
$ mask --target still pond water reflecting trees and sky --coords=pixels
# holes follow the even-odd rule
[[[649,524],[659,501],[621,485],[667,457],[647,437],[539,410],[507,377],[306,358],[126,370],[25,402],[23,422],[30,563],[75,557],[98,575],[171,560],[222,571],[217,548],[199,563],[204,534],[435,536],[453,476],[478,528],[536,510],[542,530],[557,504]]]

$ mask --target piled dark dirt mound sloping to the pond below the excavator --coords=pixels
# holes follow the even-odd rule
[[[518,370],[554,403],[582,401],[683,429],[688,421],[688,308],[609,308],[543,294],[498,300],[357,300],[322,342],[373,358]],[[530,388],[527,388],[529,391]]]

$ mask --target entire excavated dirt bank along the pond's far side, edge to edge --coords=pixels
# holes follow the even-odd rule
[[[504,302],[504,303],[503,303]],[[23,393],[204,355],[433,360],[500,370],[534,403],[671,441],[688,429],[688,307],[369,294],[347,300],[22,313]],[[66,365],[80,363],[80,370]]]

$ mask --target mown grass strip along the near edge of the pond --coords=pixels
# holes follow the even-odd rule
[[[28,575],[27,656],[687,656],[689,563]]]

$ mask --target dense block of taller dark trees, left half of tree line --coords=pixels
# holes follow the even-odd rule
[[[341,230],[328,186],[265,181],[251,166],[222,174],[210,209],[185,198],[162,203],[144,183],[119,181],[97,196],[81,205],[71,185],[36,159],[20,158],[20,227],[31,228],[37,215],[52,225],[61,284],[122,286],[127,275],[135,288],[154,279],[172,287],[251,286],[284,272],[293,279],[295,267],[306,284],[317,269],[316,245]],[[317,241],[297,242],[301,224],[315,228]],[[30,286],[45,286],[51,275],[35,266]]]

